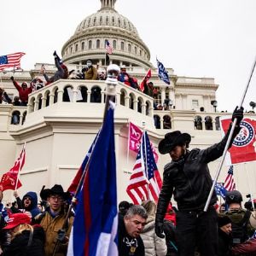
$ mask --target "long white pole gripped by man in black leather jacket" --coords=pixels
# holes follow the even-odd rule
[[[241,96],[241,103],[240,103],[240,105],[239,105],[238,108],[241,108],[242,103],[244,102],[245,96],[247,95],[247,90],[248,90],[248,87],[249,87],[249,85],[250,85],[251,79],[252,79],[252,77],[253,77],[253,72],[254,72],[255,66],[256,66],[256,57],[255,57],[255,59],[254,59],[253,67],[252,67],[252,70],[251,70],[251,73],[250,73],[250,77],[249,77],[249,79],[248,79],[248,81],[247,81],[246,88],[245,88],[245,90],[244,90],[244,92],[243,92],[243,94],[242,94],[242,96]],[[212,199],[214,187],[215,187],[215,185],[216,185],[216,183],[217,183],[219,173],[220,173],[221,168],[222,168],[222,166],[223,166],[223,164],[224,164],[224,159],[225,159],[225,156],[226,156],[227,151],[228,151],[229,146],[230,146],[231,138],[232,138],[233,133],[234,133],[234,131],[235,131],[236,122],[237,122],[237,118],[234,119],[233,124],[232,124],[232,126],[231,126],[230,135],[229,135],[228,140],[227,140],[227,143],[226,143],[226,145],[225,145],[224,154],[223,154],[222,159],[221,159],[221,161],[220,161],[220,163],[219,163],[218,170],[217,170],[217,172],[215,173],[215,176],[214,176],[214,179],[213,179],[213,183],[212,183],[212,189],[210,190],[210,193],[209,193],[209,195],[208,195],[207,202],[206,202],[206,205],[205,205],[205,207],[204,207],[204,212],[207,212],[208,207],[209,207],[209,205],[210,205],[210,201],[211,201],[211,199]]]

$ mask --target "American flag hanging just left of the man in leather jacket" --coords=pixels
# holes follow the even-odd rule
[[[154,161],[148,133],[144,131],[143,143],[140,145],[126,192],[133,203],[138,205],[145,200],[158,201],[161,186],[162,180]]]

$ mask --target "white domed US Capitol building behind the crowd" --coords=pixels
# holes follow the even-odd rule
[[[61,55],[69,70],[81,70],[91,59],[100,71],[106,67],[105,42],[108,40],[113,46],[110,63],[125,65],[127,72],[139,82],[151,68],[150,81],[159,92],[154,98],[120,82],[116,88],[114,132],[118,199],[131,201],[125,189],[137,154],[131,151],[128,154],[129,122],[141,128],[144,122],[155,148],[166,132],[175,130],[191,135],[190,148],[207,148],[221,140],[219,117],[230,113],[218,112],[215,105],[218,84],[212,78],[179,76],[172,68],[166,68],[171,85],[158,79],[157,68],[150,62],[148,46],[140,38],[136,26],[114,9],[115,2],[101,0],[101,9],[80,22],[73,36],[63,45]],[[42,64],[35,64],[30,71],[15,73],[15,80],[30,83],[34,77],[42,77]],[[55,73],[55,65],[44,63],[44,67],[49,75]],[[17,96],[11,75],[3,73],[0,87],[10,96]],[[69,101],[64,99],[67,87],[73,91]],[[30,190],[39,192],[43,185],[49,188],[55,183],[61,183],[67,189],[102,125],[105,87],[103,80],[63,79],[32,92],[27,107],[0,105],[1,175],[14,165],[23,143],[26,143],[26,163],[20,172],[23,184],[20,195]],[[78,101],[79,90],[84,92],[82,101]],[[154,102],[166,105],[166,108],[154,110]],[[20,116],[18,125],[12,123],[14,113]],[[245,114],[245,117],[255,119],[255,114]],[[168,155],[160,155],[157,166],[161,174],[168,161]],[[218,169],[218,161],[209,165],[212,177]],[[228,168],[223,166],[218,182],[224,182]],[[241,190],[244,201],[246,194],[256,195],[255,163],[234,166],[234,177],[236,189]],[[5,193],[12,198],[12,191]]]

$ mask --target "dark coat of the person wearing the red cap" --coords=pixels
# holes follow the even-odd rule
[[[35,227],[32,233],[32,243],[29,244],[30,231],[25,230],[15,236],[9,247],[5,247],[1,256],[44,256],[44,230]]]

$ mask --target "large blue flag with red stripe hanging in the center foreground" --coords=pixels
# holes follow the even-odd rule
[[[68,256],[118,256],[116,163],[113,109],[91,152],[78,196]]]

